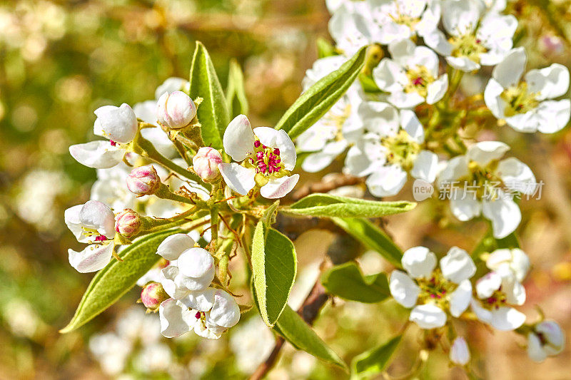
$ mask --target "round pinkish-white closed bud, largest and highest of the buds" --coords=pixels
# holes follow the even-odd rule
[[[156,103],[156,117],[161,125],[181,129],[190,124],[196,116],[196,105],[182,91],[163,93]]]

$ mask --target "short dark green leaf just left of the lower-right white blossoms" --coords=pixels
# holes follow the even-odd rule
[[[328,293],[351,301],[373,304],[390,296],[384,273],[363,276],[355,262],[329,269],[321,276],[321,283]]]

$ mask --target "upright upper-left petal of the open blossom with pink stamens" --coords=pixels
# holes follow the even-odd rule
[[[233,160],[240,162],[253,152],[254,140],[255,137],[250,120],[245,115],[238,115],[228,124],[228,128],[224,131],[224,151]]]

